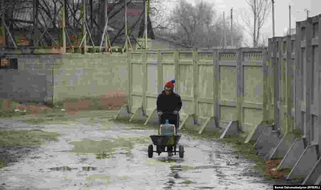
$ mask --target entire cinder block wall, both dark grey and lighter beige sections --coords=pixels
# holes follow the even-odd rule
[[[126,54],[9,55],[18,70],[0,70],[0,98],[55,103],[67,98],[125,95]]]

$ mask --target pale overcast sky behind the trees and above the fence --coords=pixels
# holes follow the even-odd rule
[[[187,0],[194,4],[195,0]],[[242,23],[240,17],[241,11],[249,11],[245,0],[204,0],[214,3],[217,14],[225,12],[225,18],[230,18],[230,9],[233,8],[234,22]],[[271,0],[268,0],[271,1]],[[296,21],[306,20],[308,9],[309,16],[321,14],[321,0],[274,0],[275,10],[275,36],[283,36],[284,29],[289,27],[289,4],[291,5],[291,28],[295,28]],[[173,5],[172,5],[173,6]],[[230,26],[229,26],[230,27]],[[244,32],[247,43],[251,41],[247,32]],[[272,9],[269,17],[262,29],[262,34],[266,37],[272,37]]]

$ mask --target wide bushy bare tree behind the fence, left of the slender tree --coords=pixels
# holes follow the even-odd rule
[[[186,0],[181,0],[173,10],[171,20],[175,36],[189,47],[213,48],[222,45],[224,22],[216,17],[213,4],[198,1],[193,6]],[[229,25],[227,20],[225,24]],[[243,35],[236,24],[234,28],[233,39],[237,43],[242,40]],[[227,36],[231,35],[230,28],[226,28],[226,33]],[[230,43],[230,37],[227,38],[227,42]]]

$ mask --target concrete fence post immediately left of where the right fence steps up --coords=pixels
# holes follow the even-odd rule
[[[293,131],[293,120],[292,120],[292,84],[291,84],[291,73],[292,70],[292,46],[291,46],[291,35],[287,36],[287,48],[286,48],[286,114],[287,114],[287,132]]]

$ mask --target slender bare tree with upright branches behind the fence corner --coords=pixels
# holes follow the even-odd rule
[[[251,35],[253,47],[257,47],[261,38],[261,28],[269,16],[271,2],[268,0],[246,0],[250,7],[250,13],[242,15],[245,22],[245,30]]]

